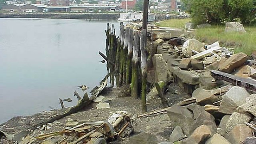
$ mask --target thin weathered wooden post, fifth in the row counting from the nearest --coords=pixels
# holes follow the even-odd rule
[[[124,25],[120,26],[119,86],[123,84]]]

